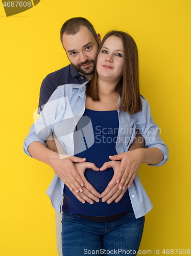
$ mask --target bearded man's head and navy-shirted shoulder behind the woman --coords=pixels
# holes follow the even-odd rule
[[[40,88],[39,112],[58,86],[85,82],[93,77],[96,69],[101,36],[96,34],[87,19],[78,17],[67,20],[61,28],[60,39],[71,64],[44,78]]]

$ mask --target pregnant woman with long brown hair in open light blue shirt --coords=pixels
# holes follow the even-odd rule
[[[147,148],[128,152],[136,130]],[[63,255],[136,254],[144,216],[152,208],[138,168],[142,162],[164,164],[168,148],[159,136],[147,100],[139,94],[137,47],[130,35],[107,33],[92,80],[66,84],[55,91],[26,139],[27,154],[49,164],[53,153],[44,141],[53,131],[67,155],[86,158],[75,167],[79,174],[85,172],[102,198],[92,205],[81,204],[69,184],[64,186],[55,175],[47,193],[57,209],[64,193]],[[116,186],[118,197],[112,201]]]

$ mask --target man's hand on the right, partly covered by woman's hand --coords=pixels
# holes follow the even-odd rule
[[[119,189],[118,184],[116,183],[116,176],[118,173],[118,170],[120,169],[121,161],[109,161],[105,162],[103,166],[100,168],[101,171],[104,171],[107,168],[112,167],[114,170],[114,175],[109,184],[107,185],[106,189],[101,194],[102,202],[107,201],[108,204],[110,204],[113,200],[115,200],[115,203],[120,201],[122,197],[124,196],[126,189]]]

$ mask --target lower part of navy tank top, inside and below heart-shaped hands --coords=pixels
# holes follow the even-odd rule
[[[108,183],[113,177],[113,168],[108,168],[104,171],[94,171],[92,169],[85,170],[85,177],[87,181],[100,193],[102,194]],[[67,186],[64,186],[64,204],[62,210],[65,212],[73,212],[74,214],[88,215],[88,216],[108,216],[115,215],[121,212],[131,210],[131,202],[129,198],[128,190],[124,194],[123,198],[115,203],[114,201],[110,204],[102,202],[94,202],[89,204],[85,202],[82,204],[69,190]]]

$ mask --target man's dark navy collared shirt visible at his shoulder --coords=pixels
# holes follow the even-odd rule
[[[44,104],[50,99],[58,86],[66,83],[81,83],[85,81],[85,77],[79,74],[71,64],[47,75],[42,81],[40,88],[38,113],[41,112]]]

